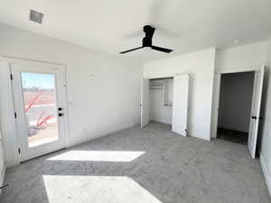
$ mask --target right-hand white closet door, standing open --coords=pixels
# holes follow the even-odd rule
[[[173,132],[187,135],[189,75],[174,77],[173,81]]]

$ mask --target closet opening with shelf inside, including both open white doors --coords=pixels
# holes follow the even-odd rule
[[[188,74],[142,78],[141,129],[154,121],[169,125],[175,134],[187,136],[189,79]]]

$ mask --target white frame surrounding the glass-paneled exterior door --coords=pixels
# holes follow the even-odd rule
[[[50,67],[50,68],[54,68],[54,69],[62,69],[65,76],[64,76],[64,79],[65,79],[65,87],[66,86],[66,66],[64,64],[59,64],[59,63],[53,63],[53,62],[50,62],[50,61],[41,61],[41,60],[29,60],[29,59],[21,59],[21,58],[13,58],[13,57],[8,57],[8,56],[0,56],[0,60],[1,60],[1,69],[8,69],[8,73],[11,74],[11,64],[16,64],[16,65],[22,65],[22,66],[30,66],[30,67],[38,67],[38,68],[44,68],[46,69],[46,67]],[[9,111],[14,111],[15,112],[15,106],[14,106],[14,90],[12,88],[12,81],[9,80],[9,89],[8,91],[11,91],[11,94],[12,94],[12,101],[13,101],[13,109],[8,109]],[[69,131],[68,131],[68,127],[69,127],[69,112],[68,112],[68,108],[67,108],[67,88],[66,88],[66,91],[65,91],[65,101],[64,101],[64,104],[63,104],[63,108],[64,108],[64,132],[63,132],[63,136],[64,136],[64,140],[65,140],[65,147],[68,147],[69,146]],[[12,121],[10,121],[12,122]],[[18,130],[17,130],[17,125],[16,125],[16,120],[15,118],[13,117],[13,127],[14,127],[14,137],[5,137],[6,139],[6,142],[5,143],[8,143],[8,147],[11,147],[12,150],[13,150],[13,157],[14,157],[14,161],[12,161],[12,163],[10,163],[9,165],[16,165],[16,164],[19,164],[20,161],[21,161],[21,157],[20,157],[20,154],[18,153],[18,148],[19,148],[19,134],[18,134]]]

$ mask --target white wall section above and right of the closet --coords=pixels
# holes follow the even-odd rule
[[[210,140],[214,62],[215,49],[212,48],[156,60],[144,66],[145,78],[164,78],[180,73],[190,74],[188,133],[205,140]]]

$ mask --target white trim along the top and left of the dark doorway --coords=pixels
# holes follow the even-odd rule
[[[217,130],[218,130],[218,121],[219,121],[219,107],[220,107],[220,84],[221,84],[221,75],[226,73],[239,73],[239,72],[256,72],[261,69],[259,67],[247,67],[247,68],[235,68],[235,69],[226,69],[226,70],[216,70],[215,71],[215,86],[214,86],[214,103],[212,107],[213,115],[212,115],[212,122],[211,122],[211,139],[217,138]],[[256,84],[254,84],[255,87]],[[252,104],[256,105],[256,104]]]

